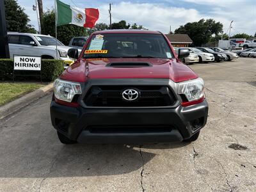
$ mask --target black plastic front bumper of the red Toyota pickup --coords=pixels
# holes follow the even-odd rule
[[[154,109],[71,108],[51,102],[54,128],[79,143],[180,142],[202,129],[207,115],[206,100],[188,107]]]

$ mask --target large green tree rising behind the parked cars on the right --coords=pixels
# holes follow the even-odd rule
[[[213,19],[201,19],[198,22],[188,22],[175,29],[174,33],[188,34],[193,44],[201,46],[211,39],[212,35],[218,36],[223,31],[223,24]]]

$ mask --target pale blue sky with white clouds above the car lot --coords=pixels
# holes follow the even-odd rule
[[[44,11],[54,8],[54,0],[42,0]],[[30,24],[38,29],[36,12],[32,10],[35,0],[17,0],[29,15]],[[107,1],[107,0],[62,0],[63,3],[79,8],[99,8],[98,22],[109,24],[108,8],[112,4],[112,20],[143,25],[150,30],[168,33],[187,22],[202,18],[212,18],[223,24],[227,33],[228,26],[234,20],[231,35],[256,32],[256,0],[148,0],[148,1]]]

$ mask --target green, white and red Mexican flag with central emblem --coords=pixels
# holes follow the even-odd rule
[[[84,28],[93,28],[99,19],[99,10],[95,8],[77,8],[56,0],[57,26],[74,24]]]

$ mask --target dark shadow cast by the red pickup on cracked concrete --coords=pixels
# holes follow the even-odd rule
[[[86,177],[140,172],[142,165],[156,156],[143,148],[184,147],[184,143],[147,144],[140,151],[140,145],[62,145],[56,138],[54,140],[52,146],[46,148],[40,147],[40,141],[31,146],[28,146],[30,142],[22,141],[22,150],[10,152],[7,158],[4,157],[5,161],[1,159],[0,178]],[[50,139],[44,143],[51,142]]]

